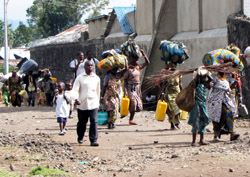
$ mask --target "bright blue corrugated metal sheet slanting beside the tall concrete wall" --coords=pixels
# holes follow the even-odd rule
[[[129,24],[126,14],[136,10],[136,7],[114,7],[117,19],[121,25],[124,34],[133,33],[133,29]]]

